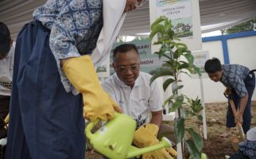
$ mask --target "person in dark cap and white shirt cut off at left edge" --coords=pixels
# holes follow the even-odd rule
[[[3,119],[9,113],[15,43],[10,30],[0,21],[0,138],[6,136]]]

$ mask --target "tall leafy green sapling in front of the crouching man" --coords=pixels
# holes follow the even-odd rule
[[[152,40],[155,36],[157,36],[157,41],[153,45],[160,45],[160,48],[154,53],[159,58],[165,58],[165,63],[154,72],[150,82],[152,83],[153,80],[161,76],[167,77],[163,83],[163,89],[165,91],[169,85],[172,85],[173,95],[169,95],[163,105],[167,104],[169,111],[176,111],[178,114],[174,120],[176,143],[183,143],[184,141],[190,157],[193,159],[204,158],[205,154],[201,154],[204,143],[199,131],[197,133],[192,127],[185,127],[185,119],[188,117],[196,116],[199,121],[202,120],[200,115],[200,111],[203,109],[201,101],[198,98],[190,99],[179,93],[183,87],[180,75],[190,76],[191,73],[195,72],[200,75],[200,69],[193,64],[194,57],[187,45],[175,37],[173,25],[168,17],[161,16],[153,22],[149,39]],[[184,134],[188,134],[188,138],[184,139]]]

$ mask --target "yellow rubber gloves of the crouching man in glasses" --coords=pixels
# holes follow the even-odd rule
[[[146,130],[145,127],[148,127],[148,130]],[[138,146],[139,148],[143,148],[149,145],[156,145],[159,143],[158,139],[149,132],[149,130],[152,130],[152,132],[158,132],[158,126],[148,123],[146,126],[141,126],[138,128],[138,130],[134,133],[134,145]],[[143,159],[173,159],[172,156],[169,155],[169,153],[165,149],[158,149],[156,151],[145,153],[142,155]]]

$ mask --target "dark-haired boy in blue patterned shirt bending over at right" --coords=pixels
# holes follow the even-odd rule
[[[246,134],[250,129],[250,105],[255,88],[254,72],[240,64],[221,64],[217,58],[207,60],[204,69],[211,80],[223,83],[232,92],[231,99],[233,99],[236,109],[239,107],[239,113],[234,117],[231,103],[228,103],[227,130],[222,136],[227,137],[228,134],[231,134],[231,127],[235,127],[235,122],[242,123],[242,129]]]

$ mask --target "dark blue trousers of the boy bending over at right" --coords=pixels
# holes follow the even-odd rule
[[[251,113],[250,113],[250,105],[251,105],[251,97],[254,94],[254,88],[255,88],[255,76],[254,72],[250,73],[244,80],[244,83],[246,85],[246,90],[248,92],[248,101],[246,104],[246,108],[243,112],[242,115],[242,130],[246,134],[248,130],[250,130],[250,121],[251,121]],[[235,103],[236,109],[239,107],[240,103],[240,97],[239,95],[231,95],[231,98],[233,99]],[[235,127],[235,117],[233,114],[233,111],[231,109],[231,103],[228,103],[227,107],[227,122],[226,122],[227,127]]]

